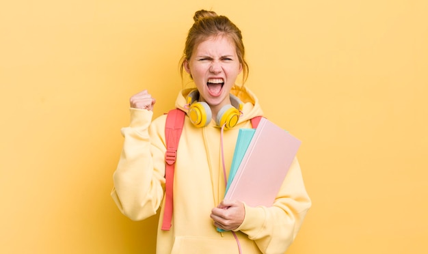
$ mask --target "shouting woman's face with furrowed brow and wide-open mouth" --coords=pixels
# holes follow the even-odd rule
[[[231,40],[217,36],[201,42],[184,65],[198,88],[199,101],[208,103],[213,113],[230,104],[230,89],[242,71]]]

